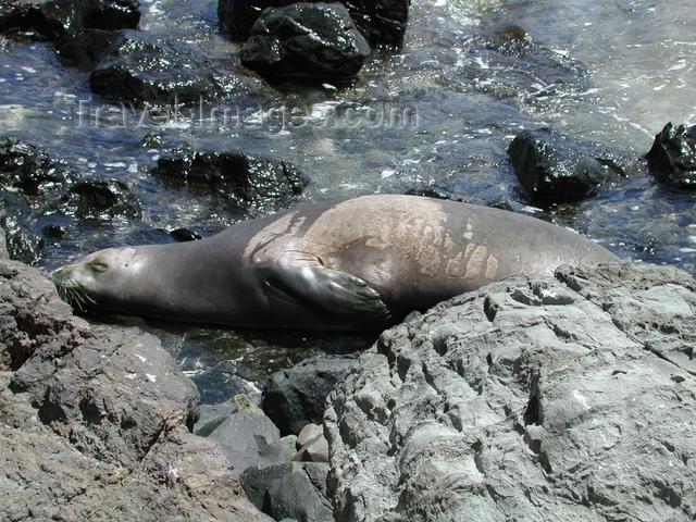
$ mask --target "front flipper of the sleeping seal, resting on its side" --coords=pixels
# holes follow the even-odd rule
[[[309,264],[309,263],[307,263]],[[389,310],[380,294],[360,277],[327,269],[321,263],[278,263],[266,286],[323,315],[386,323]]]

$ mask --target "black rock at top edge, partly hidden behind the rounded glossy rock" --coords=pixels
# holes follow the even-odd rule
[[[295,0],[219,0],[220,25],[233,40],[244,41],[266,8],[283,8]],[[356,26],[372,46],[401,47],[410,0],[341,0]]]

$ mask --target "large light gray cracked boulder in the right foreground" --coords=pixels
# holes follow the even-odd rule
[[[330,396],[336,520],[694,520],[695,290],[561,268],[385,332]]]

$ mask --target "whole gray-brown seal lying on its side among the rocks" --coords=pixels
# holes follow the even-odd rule
[[[59,269],[76,308],[244,327],[378,330],[517,274],[618,258],[549,223],[417,196],[364,196],[208,239],[107,249]]]

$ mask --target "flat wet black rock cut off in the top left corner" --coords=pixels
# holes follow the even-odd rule
[[[138,0],[8,1],[0,5],[0,30],[35,30],[49,40],[83,28],[135,29]]]

